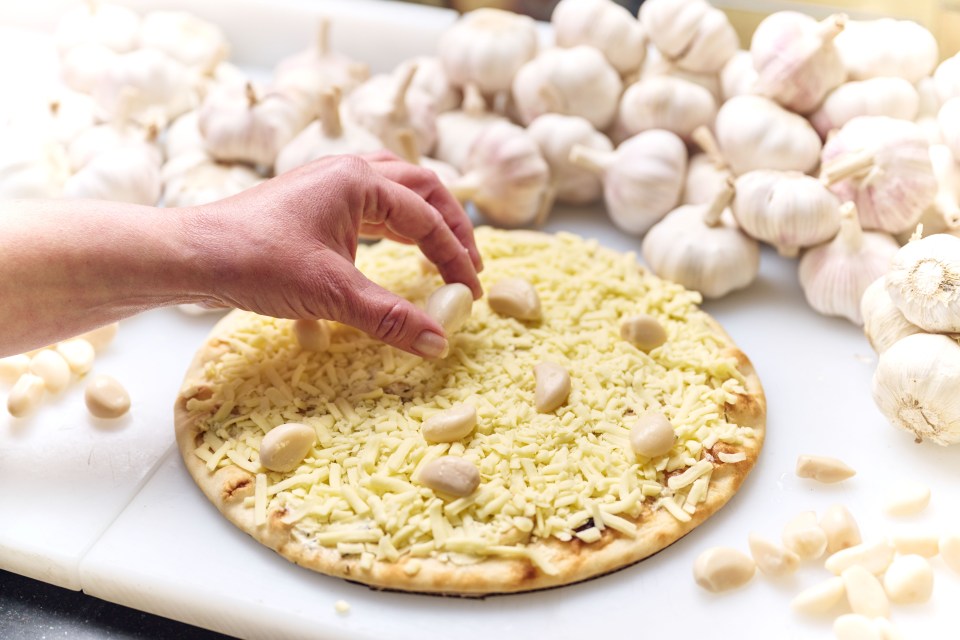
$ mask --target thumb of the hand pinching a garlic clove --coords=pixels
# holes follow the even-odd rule
[[[333,267],[343,304],[330,309],[331,320],[356,327],[383,342],[424,358],[447,352],[443,327],[405,298],[371,282],[347,260]]]

